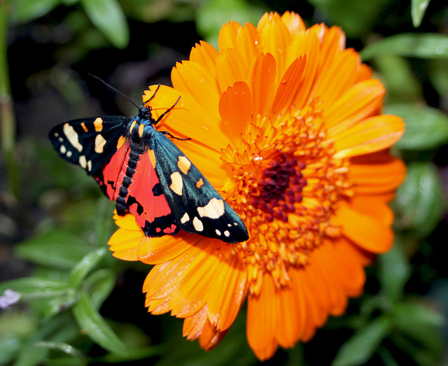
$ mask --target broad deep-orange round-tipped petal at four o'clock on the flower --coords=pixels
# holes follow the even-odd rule
[[[377,218],[367,216],[343,202],[332,220],[341,225],[344,235],[360,248],[372,253],[384,253],[393,244],[393,231]]]

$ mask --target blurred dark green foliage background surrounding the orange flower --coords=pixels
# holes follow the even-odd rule
[[[37,66],[31,67],[23,83],[32,85],[34,92],[39,90],[36,85],[50,86],[65,111],[83,117],[94,98],[76,71],[86,59],[99,57],[104,62],[101,67],[118,73],[120,60],[110,57],[112,49],[122,50],[121,59],[130,60],[137,50],[148,58],[160,52],[162,59],[167,56],[165,48],[188,53],[194,43],[181,42],[181,31],[188,24],[195,24],[195,41],[202,38],[216,45],[224,22],[256,24],[267,10],[295,10],[307,24],[337,24],[346,31],[349,45],[358,50],[365,47],[363,59],[372,64],[388,90],[384,112],[405,120],[405,135],[393,149],[408,165],[407,179],[393,202],[395,246],[368,270],[363,297],[352,300],[347,314],[330,320],[309,344],[279,350],[273,362],[441,364],[446,346],[441,337],[442,311],[448,304],[446,300],[440,304],[437,293],[433,297],[426,293],[434,283],[446,283],[448,276],[444,262],[437,258],[444,253],[447,237],[447,4],[435,0],[11,0],[0,1],[0,123],[6,170],[1,181],[1,218],[15,218],[27,232],[13,235],[2,248],[14,244],[10,258],[30,263],[32,269],[29,276],[0,283],[0,294],[11,288],[22,296],[19,304],[0,314],[0,365],[139,360],[145,365],[257,363],[246,344],[244,312],[223,342],[205,353],[197,342],[181,338],[181,321],[148,316],[142,296],[134,301],[126,297],[129,293],[123,295],[120,283],[125,281],[139,293],[149,268],[115,260],[107,250],[114,230],[113,204],[101,197],[92,179],[62,162],[45,137],[23,133],[27,128],[20,127],[19,119],[22,134],[16,141],[13,103],[19,97],[14,95],[17,85],[13,83],[11,91],[9,80],[22,79],[17,71],[9,75],[7,55],[8,39],[9,50],[14,50],[27,31],[41,47],[55,45],[50,66],[38,64],[42,55],[28,55]],[[14,36],[8,38],[8,29]],[[164,38],[165,44],[158,44],[158,37],[165,34],[172,43]],[[131,51],[135,38],[139,48]],[[151,60],[158,64],[158,58]],[[9,62],[17,70],[15,64],[22,60]],[[144,84],[134,84],[130,92],[141,94]],[[29,91],[27,102],[34,92]],[[20,100],[23,105],[22,96]],[[50,125],[57,122],[62,121]],[[140,308],[137,320],[127,317]]]

